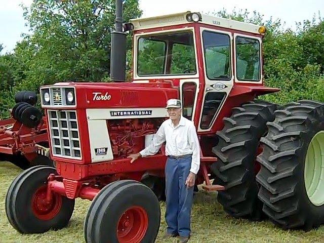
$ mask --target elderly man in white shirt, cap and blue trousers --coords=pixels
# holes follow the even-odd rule
[[[166,221],[164,238],[179,236],[180,242],[190,237],[190,214],[193,186],[200,165],[200,147],[192,121],[181,115],[181,102],[167,102],[170,119],[159,127],[152,143],[137,154],[130,154],[131,163],[139,157],[154,155],[166,142],[168,156],[166,175]]]

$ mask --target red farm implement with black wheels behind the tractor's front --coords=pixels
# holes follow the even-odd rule
[[[21,91],[15,95],[12,118],[0,120],[0,161],[10,161],[25,170],[31,166],[53,166],[49,158],[46,117],[34,107],[37,95]]]

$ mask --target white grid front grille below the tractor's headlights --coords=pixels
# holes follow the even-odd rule
[[[81,159],[76,111],[48,110],[53,155]]]

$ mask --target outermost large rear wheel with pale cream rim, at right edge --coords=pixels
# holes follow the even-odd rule
[[[259,198],[276,225],[310,230],[324,220],[324,103],[301,100],[275,115],[257,158]]]

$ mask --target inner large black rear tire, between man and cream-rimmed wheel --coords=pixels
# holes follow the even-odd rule
[[[260,138],[267,133],[266,123],[274,120],[276,105],[255,100],[232,109],[223,118],[224,128],[216,133],[218,144],[212,149],[218,160],[211,170],[214,184],[225,186],[217,200],[233,217],[261,220],[262,203],[258,199],[259,185],[255,181]]]

